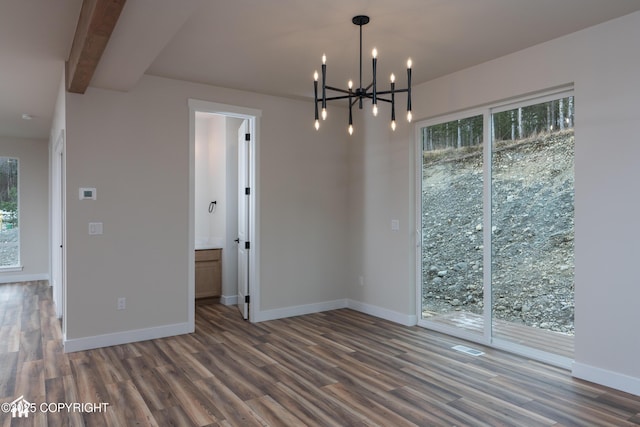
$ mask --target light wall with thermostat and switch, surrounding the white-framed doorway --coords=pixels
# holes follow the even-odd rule
[[[66,94],[72,344],[100,344],[139,330],[159,334],[188,321],[190,98],[262,111],[259,307],[344,298],[343,129],[327,124],[316,132],[309,102],[144,76],[128,93],[89,88]],[[96,187],[97,200],[72,197],[81,186]],[[104,235],[89,236],[90,221],[103,222]],[[116,310],[120,296],[127,298],[123,311]]]

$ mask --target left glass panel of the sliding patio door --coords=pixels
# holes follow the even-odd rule
[[[420,129],[422,318],[483,334],[483,116]]]

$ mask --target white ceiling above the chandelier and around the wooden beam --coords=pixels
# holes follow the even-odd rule
[[[47,138],[82,0],[0,0],[0,135]],[[640,10],[637,0],[128,0],[91,86],[129,90],[142,74],[287,97],[379,81],[413,84]],[[386,87],[386,85],[384,85]],[[34,116],[22,120],[23,113]]]

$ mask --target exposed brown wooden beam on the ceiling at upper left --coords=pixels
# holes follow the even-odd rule
[[[91,83],[126,0],[84,0],[67,61],[67,90],[84,93]]]

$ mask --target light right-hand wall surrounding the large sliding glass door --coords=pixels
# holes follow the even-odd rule
[[[640,13],[420,85],[413,110],[420,120],[574,83],[574,374],[640,394],[637,40]],[[416,314],[415,274],[408,273],[415,268],[414,238],[402,224],[403,218],[413,221],[415,209],[413,132],[403,125],[385,140],[377,129],[367,135],[366,147],[354,147],[350,163],[351,253],[357,261],[349,275],[351,295],[407,315]],[[393,216],[404,237],[389,234]],[[366,279],[362,288],[358,274]]]

